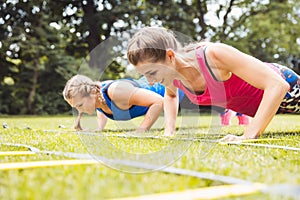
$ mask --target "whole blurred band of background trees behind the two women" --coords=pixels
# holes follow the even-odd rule
[[[143,26],[224,42],[299,73],[299,17],[300,2],[289,0],[6,0],[0,114],[70,112],[61,95],[66,81],[79,72],[124,77],[126,40],[118,39]]]

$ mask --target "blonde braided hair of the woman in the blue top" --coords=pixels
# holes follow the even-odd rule
[[[77,94],[86,97],[91,94],[93,89],[100,90],[100,85],[87,76],[75,75],[66,83],[63,96],[65,100],[70,100]]]

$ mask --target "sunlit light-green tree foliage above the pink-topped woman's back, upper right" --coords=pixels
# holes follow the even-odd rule
[[[232,15],[231,11],[238,9],[242,12]],[[300,50],[299,10],[300,4],[296,1],[276,0],[263,4],[231,0],[217,12],[225,13],[222,15],[224,23],[216,29],[212,40],[233,45],[263,61],[290,66],[289,57],[299,54]]]

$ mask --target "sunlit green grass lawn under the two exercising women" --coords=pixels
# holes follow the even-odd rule
[[[300,148],[299,119],[299,115],[277,115],[262,137],[273,140],[259,143]],[[242,134],[245,127],[237,126],[236,119],[233,120],[233,125],[230,127],[219,127],[215,125],[218,122],[217,118],[183,116],[178,119],[178,137],[175,139],[116,137],[120,134],[134,134],[133,130],[140,120],[136,119],[127,123],[109,121],[107,129],[102,133],[97,133],[102,137],[98,137],[97,135],[75,134],[72,131],[73,117],[3,117],[0,118],[0,123],[7,123],[10,129],[0,128],[0,140],[1,143],[26,144],[40,150],[92,152],[106,157],[117,157],[118,155],[112,151],[113,148],[117,150],[116,152],[125,152],[125,157],[120,155],[120,158],[123,159],[131,154],[143,156],[170,150],[173,151],[171,152],[173,154],[174,152],[184,153],[173,162],[172,167],[230,176],[267,185],[300,185],[299,151],[180,140],[196,137],[204,141],[221,138],[227,133]],[[163,133],[162,122],[163,118],[159,119],[148,135],[160,136]],[[96,127],[94,117],[85,117],[82,124],[91,129]],[[64,125],[65,128],[59,128],[59,125]],[[107,137],[103,137],[103,135]],[[115,137],[113,137],[114,135]],[[100,148],[101,142],[105,142],[105,144]],[[94,149],[97,146],[99,149]],[[0,150],[27,149],[0,145]],[[1,156],[0,163],[59,159],[68,158],[45,154]],[[164,163],[163,159],[167,159],[167,157],[162,156],[161,159]],[[158,160],[153,162],[159,163]],[[129,171],[131,170],[134,169],[130,168]],[[141,174],[124,173],[102,164],[58,166],[0,171],[0,199],[109,199],[223,184],[220,181],[159,171]],[[226,199],[240,198],[228,197]],[[272,193],[251,194],[243,197],[243,199],[276,198],[288,199],[288,197]]]

